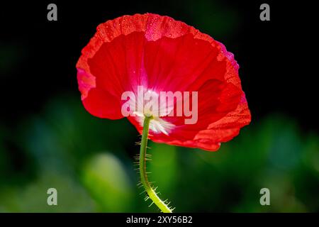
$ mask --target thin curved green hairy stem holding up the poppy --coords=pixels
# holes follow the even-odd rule
[[[145,192],[147,192],[148,196],[152,201],[158,206],[158,208],[163,213],[172,213],[172,210],[169,209],[167,204],[164,203],[159,196],[157,196],[154,189],[150,185],[147,179],[147,172],[146,172],[146,150],[147,150],[147,138],[148,138],[148,131],[150,128],[150,121],[152,120],[152,116],[145,116],[144,119],[144,126],[143,126],[143,133],[142,133],[142,141],[140,144],[140,180],[144,186]]]

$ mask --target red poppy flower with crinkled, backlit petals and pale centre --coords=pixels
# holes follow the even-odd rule
[[[150,122],[157,143],[217,150],[250,123],[238,65],[224,45],[168,16],[146,13],[106,21],[77,62],[82,102],[99,118],[123,118],[123,92],[198,92],[198,119],[162,114]],[[176,101],[174,102],[176,106]],[[128,116],[142,132],[143,115]]]

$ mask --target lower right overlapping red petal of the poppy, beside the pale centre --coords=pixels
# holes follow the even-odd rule
[[[150,139],[157,143],[218,150],[220,143],[238,135],[240,128],[251,120],[245,94],[231,83],[224,86],[220,82],[213,81],[198,91],[196,124],[185,124],[185,117],[167,116],[163,119],[174,123],[174,130],[169,135],[151,131]],[[135,118],[129,120],[141,133],[140,123]]]

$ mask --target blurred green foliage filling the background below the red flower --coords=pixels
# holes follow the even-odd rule
[[[138,188],[140,137],[126,120],[88,114],[77,95],[0,126],[1,212],[158,211]],[[175,211],[319,211],[319,142],[291,118],[253,119],[217,152],[150,142],[150,181]],[[58,205],[47,205],[47,189]],[[259,204],[270,189],[271,205]]]

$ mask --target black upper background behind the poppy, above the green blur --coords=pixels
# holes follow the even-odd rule
[[[46,10],[51,1],[4,4],[1,116],[15,122],[39,111],[53,94],[74,92],[74,65],[96,26],[125,14],[152,12],[184,21],[235,53],[253,118],[284,111],[316,129],[315,62],[309,55],[314,52],[313,6],[267,2],[271,21],[259,20],[264,1],[55,1],[58,21],[52,22]]]

